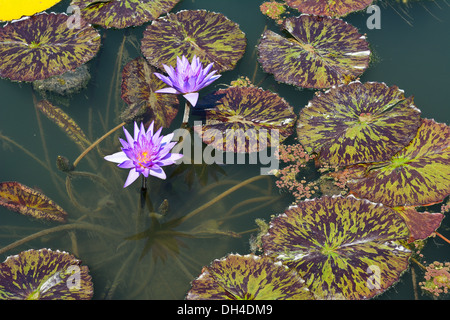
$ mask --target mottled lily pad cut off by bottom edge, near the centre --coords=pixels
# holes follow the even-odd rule
[[[204,267],[187,300],[309,300],[297,272],[268,257],[230,254]]]

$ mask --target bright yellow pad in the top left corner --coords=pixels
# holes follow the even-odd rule
[[[53,7],[61,0],[0,0],[0,21],[17,20]]]

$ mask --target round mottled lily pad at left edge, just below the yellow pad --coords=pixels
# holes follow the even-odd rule
[[[100,34],[66,14],[40,13],[0,28],[0,77],[35,81],[75,70],[100,49]]]

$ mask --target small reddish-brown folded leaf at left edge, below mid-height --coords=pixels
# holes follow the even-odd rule
[[[67,213],[41,192],[19,182],[0,183],[0,205],[26,216],[65,222]]]

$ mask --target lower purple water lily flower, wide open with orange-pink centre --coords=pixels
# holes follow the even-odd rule
[[[154,122],[150,124],[146,132],[143,123],[139,128],[134,122],[134,137],[123,127],[127,140],[119,139],[122,151],[104,157],[105,160],[119,163],[117,165],[119,168],[130,169],[124,188],[133,183],[141,174],[146,178],[152,175],[165,179],[166,174],[161,167],[174,164],[183,157],[182,154],[169,152],[177,144],[170,142],[173,133],[166,136],[161,135],[162,128],[159,128],[153,134],[153,125]]]

